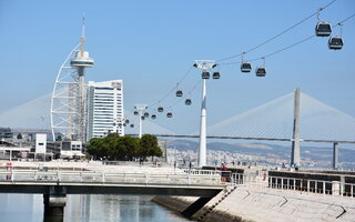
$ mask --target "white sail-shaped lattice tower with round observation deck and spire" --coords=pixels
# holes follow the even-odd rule
[[[85,68],[93,67],[93,59],[84,51],[84,19],[80,43],[60,67],[51,101],[53,140],[61,133],[70,140],[87,140],[87,85]],[[70,61],[70,62],[69,62]]]

